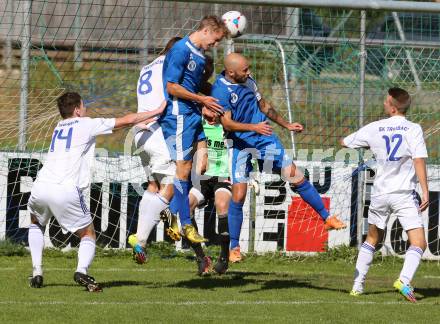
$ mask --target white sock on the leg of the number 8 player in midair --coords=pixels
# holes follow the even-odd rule
[[[160,212],[168,207],[168,201],[159,194],[145,191],[139,203],[139,217],[136,237],[139,245],[145,247],[151,231],[160,221]]]

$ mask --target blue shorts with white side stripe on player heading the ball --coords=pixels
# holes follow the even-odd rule
[[[173,115],[166,114],[159,119],[162,132],[173,161],[190,161],[193,147],[205,139],[202,116],[197,113]]]

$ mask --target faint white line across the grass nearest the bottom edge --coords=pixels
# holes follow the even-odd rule
[[[0,301],[0,305],[128,305],[128,306],[140,306],[140,305],[166,305],[166,306],[197,306],[197,305],[218,305],[218,306],[233,306],[233,305],[330,305],[330,304],[347,304],[347,305],[409,305],[408,302],[374,302],[374,301],[328,301],[328,300],[298,300],[298,301],[282,301],[282,300],[234,300],[234,301],[185,301],[185,302],[170,302],[170,301],[136,301],[136,302],[112,302],[112,301],[95,301],[95,302],[75,302],[75,301],[39,301],[39,302],[27,302],[27,301],[14,301],[5,300]],[[418,303],[418,306],[423,305],[438,305],[438,303]]]

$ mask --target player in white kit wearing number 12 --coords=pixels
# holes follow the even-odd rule
[[[394,287],[409,301],[416,301],[411,280],[426,249],[421,212],[429,203],[425,164],[428,155],[422,128],[405,118],[410,105],[411,97],[405,90],[389,89],[384,110],[390,117],[362,127],[341,142],[349,148],[369,147],[377,161],[368,211],[368,235],[356,262],[354,285],[350,292],[353,296],[363,293],[374,251],[382,241],[387,219],[393,213],[410,243]],[[422,190],[420,204],[415,193],[417,179]]]

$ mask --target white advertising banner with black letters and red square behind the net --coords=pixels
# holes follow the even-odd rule
[[[0,239],[26,242],[29,226],[26,204],[44,158],[44,153],[0,153]],[[297,165],[303,168],[316,187],[330,214],[337,214],[347,223],[347,228],[325,231],[317,213],[279,176],[256,174],[257,185],[249,186],[252,190],[248,190],[244,205],[240,237],[243,252],[320,252],[327,247],[357,244],[357,176],[352,176],[355,167],[338,162],[298,162]],[[428,173],[431,204],[423,213],[428,240],[425,258],[440,259],[440,168],[429,166]],[[92,184],[85,194],[94,215],[98,244],[112,248],[126,247],[128,234],[136,231],[138,204],[145,182],[145,172],[137,156],[100,155],[96,158]],[[367,206],[371,184],[372,177],[367,177],[362,197]],[[364,212],[363,216],[366,215]],[[366,222],[366,218],[363,220]],[[215,213],[208,209],[197,210],[196,221],[199,231],[215,242]],[[75,236],[63,233],[55,220],[46,227],[45,234],[47,247],[68,248],[78,243]],[[164,225],[160,223],[150,240],[165,239]],[[176,247],[180,248],[181,243]],[[402,255],[407,247],[406,234],[391,215],[382,252]]]

